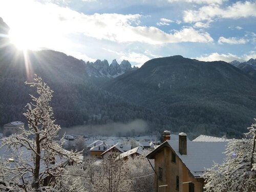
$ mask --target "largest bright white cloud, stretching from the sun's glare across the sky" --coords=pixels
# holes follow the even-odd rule
[[[63,39],[80,34],[99,40],[119,43],[145,42],[151,45],[213,41],[209,33],[193,28],[165,33],[156,27],[138,26],[140,14],[86,15],[68,7],[52,3],[42,4],[32,0],[9,0],[5,3],[0,1],[0,12],[11,30],[16,31],[15,35],[20,35],[18,38],[31,41],[38,47],[55,50],[68,46]],[[162,18],[162,21],[172,22],[166,18]],[[74,44],[73,41],[71,43]]]

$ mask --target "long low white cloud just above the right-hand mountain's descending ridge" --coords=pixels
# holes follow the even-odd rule
[[[238,60],[240,62],[247,61],[250,58],[256,58],[256,52],[250,51],[247,54],[244,54],[242,56],[233,55],[231,53],[228,54],[219,54],[219,53],[211,53],[209,55],[204,55],[201,57],[196,57],[195,59],[201,60],[201,61],[218,61],[223,60],[226,62],[231,62],[233,60]]]

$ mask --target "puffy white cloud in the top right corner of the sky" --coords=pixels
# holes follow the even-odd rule
[[[220,5],[209,5],[201,7],[198,11],[184,11],[183,20],[186,23],[201,22],[202,20],[211,20],[212,18],[231,18],[256,16],[256,2],[237,2],[223,9]]]

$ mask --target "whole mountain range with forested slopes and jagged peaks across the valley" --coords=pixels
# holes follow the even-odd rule
[[[254,61],[245,65],[253,68]],[[64,127],[142,119],[148,132],[241,138],[256,117],[256,80],[241,64],[176,55],[136,69],[125,60],[86,63],[52,50],[24,55],[11,45],[1,47],[0,126],[26,122],[24,106],[36,92],[24,82],[36,73],[54,90],[56,122]]]

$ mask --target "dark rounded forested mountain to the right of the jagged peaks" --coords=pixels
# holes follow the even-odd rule
[[[256,117],[256,81],[224,61],[156,58],[103,88],[178,119],[170,130],[240,137]]]

